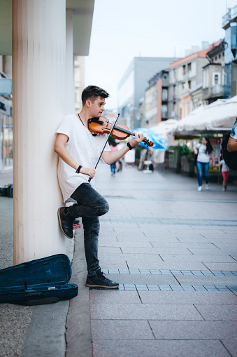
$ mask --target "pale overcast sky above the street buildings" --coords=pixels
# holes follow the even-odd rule
[[[224,38],[222,16],[236,0],[95,0],[85,85],[110,93],[134,57],[185,57],[185,50]]]

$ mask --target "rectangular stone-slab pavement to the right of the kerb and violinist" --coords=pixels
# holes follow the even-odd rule
[[[119,291],[89,290],[94,357],[237,356],[237,189],[101,165],[99,257]]]

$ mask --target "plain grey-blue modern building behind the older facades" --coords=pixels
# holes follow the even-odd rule
[[[148,80],[174,60],[176,58],[134,58],[118,86],[118,108],[122,123],[131,129],[141,126],[141,98],[144,97]]]

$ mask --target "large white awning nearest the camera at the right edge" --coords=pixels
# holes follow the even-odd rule
[[[169,134],[222,133],[231,130],[237,116],[237,95],[199,107],[171,128]]]

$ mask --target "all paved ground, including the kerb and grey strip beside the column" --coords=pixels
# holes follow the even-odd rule
[[[1,304],[0,356],[237,356],[237,187],[198,192],[194,178],[131,166],[111,177],[103,163],[96,187],[110,204],[100,219],[101,267],[120,289],[85,288],[78,229],[78,297]],[[0,269],[13,264],[12,205],[0,197]]]

